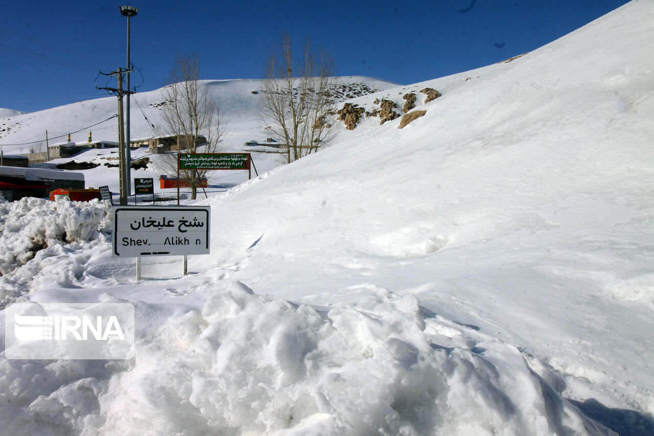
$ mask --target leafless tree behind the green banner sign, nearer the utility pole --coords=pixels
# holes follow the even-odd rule
[[[184,153],[216,153],[224,126],[220,124],[218,105],[209,94],[207,84],[199,81],[198,54],[179,54],[168,74],[168,86],[162,90],[162,121],[156,130],[160,136],[176,139],[177,151]],[[175,142],[175,141],[173,141]],[[177,153],[168,153],[162,159],[163,170],[177,175]],[[180,170],[180,178],[188,180],[191,199],[207,170]]]

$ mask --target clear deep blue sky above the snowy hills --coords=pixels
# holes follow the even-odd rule
[[[107,96],[95,89],[95,77],[99,70],[126,65],[123,4],[139,9],[131,19],[131,62],[143,79],[135,73],[131,84],[148,91],[165,84],[180,52],[198,52],[203,79],[258,79],[283,32],[290,33],[297,52],[307,37],[315,48],[325,48],[336,62],[337,75],[411,84],[534,50],[625,3],[5,2],[0,14],[0,107],[39,111]],[[106,82],[106,77],[97,79],[98,86]]]

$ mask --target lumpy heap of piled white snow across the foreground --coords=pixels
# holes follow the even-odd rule
[[[413,295],[351,291],[360,304],[334,308],[256,295],[240,282],[173,316],[137,303],[137,324],[159,327],[137,327],[129,368],[3,359],[0,424],[134,435],[611,434],[517,348],[432,314]]]

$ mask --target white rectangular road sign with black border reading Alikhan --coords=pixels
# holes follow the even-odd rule
[[[121,206],[114,211],[114,256],[209,254],[209,206]]]

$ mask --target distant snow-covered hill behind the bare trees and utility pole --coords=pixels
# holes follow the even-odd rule
[[[224,81],[203,81],[209,93],[220,107],[220,114],[227,128],[224,145],[228,149],[241,147],[251,139],[265,140],[257,123],[257,102],[260,94],[259,81],[236,79]],[[370,94],[371,92],[394,88],[397,84],[373,79],[371,77],[337,77],[334,91],[337,101]],[[135,101],[135,102],[134,102]],[[134,94],[131,103],[131,138],[156,136],[151,124],[158,125],[161,107],[165,101],[162,90]],[[0,128],[0,144],[9,154],[27,153],[29,146],[39,141],[48,142],[71,140],[85,142],[89,132],[95,141],[116,141],[116,98],[107,97],[80,101],[44,111],[6,115]]]

